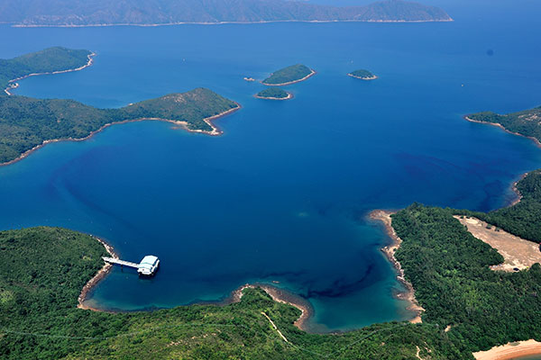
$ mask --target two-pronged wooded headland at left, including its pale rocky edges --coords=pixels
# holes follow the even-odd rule
[[[92,55],[87,50],[45,49],[3,60],[0,79],[9,86],[25,76],[75,71],[91,65]],[[54,65],[56,61],[59,67]],[[12,76],[17,77],[10,79]],[[20,160],[47,143],[88,139],[107,126],[128,121],[170,121],[189,131],[219,135],[222,131],[213,121],[238,109],[238,103],[206,88],[167,94],[120,109],[98,109],[66,99],[34,99],[5,91],[0,96],[0,165]]]

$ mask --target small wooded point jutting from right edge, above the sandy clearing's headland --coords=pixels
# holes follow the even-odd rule
[[[467,116],[473,121],[500,124],[504,129],[541,141],[541,107],[522,112],[500,115],[495,112],[478,112]]]

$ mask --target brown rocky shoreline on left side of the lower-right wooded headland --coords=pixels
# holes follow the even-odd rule
[[[413,319],[409,320],[409,322],[412,324],[418,324],[423,322],[423,320],[421,319],[421,315],[425,311],[425,309],[423,309],[423,307],[420,306],[417,302],[417,299],[415,297],[415,289],[413,288],[413,285],[410,284],[408,280],[406,280],[404,276],[404,270],[402,269],[402,266],[400,266],[399,260],[397,260],[397,258],[395,257],[395,252],[400,247],[400,244],[402,242],[402,239],[398,237],[397,233],[391,226],[390,215],[394,214],[395,212],[396,211],[374,210],[370,212],[369,217],[371,220],[381,221],[381,223],[385,227],[387,235],[392,239],[390,245],[381,247],[381,252],[385,255],[385,257],[387,257],[392,266],[394,266],[398,273],[397,279],[399,279],[399,282],[403,284],[406,288],[405,292],[401,292],[396,295],[397,298],[399,300],[409,302],[407,310],[414,311],[416,313],[416,316]]]

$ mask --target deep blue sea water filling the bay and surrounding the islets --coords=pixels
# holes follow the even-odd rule
[[[415,201],[489,211],[541,167],[532,141],[462,118],[541,104],[539,5],[494,4],[454,5],[454,23],[0,26],[0,58],[97,53],[16,94],[118,107],[205,86],[243,105],[216,121],[221,137],[137,122],[0,167],[0,229],[62,226],[126,260],[160,257],[151,280],[115,268],[88,301],[105,309],[215,301],[260,281],[307,298],[312,329],[409,319],[367,213]],[[243,81],[294,63],[317,75],[287,86],[291,101],[255,99],[263,86]],[[380,78],[345,76],[356,68]]]

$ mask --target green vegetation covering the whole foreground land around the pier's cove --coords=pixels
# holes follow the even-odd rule
[[[518,183],[526,201],[541,200],[540,179],[536,171]],[[456,212],[413,204],[392,217],[403,240],[396,257],[426,309],[424,323],[375,324],[336,335],[295,328],[300,311],[260,289],[247,289],[242,302],[224,307],[80,310],[78,293],[103,265],[105,249],[96,239],[67,229],[3,231],[0,357],[416,359],[418,348],[422,358],[472,359],[473,351],[509,341],[541,340],[541,266],[492,271],[503,258],[455,220]],[[512,222],[513,215],[501,216]]]

